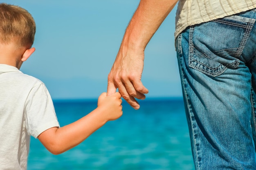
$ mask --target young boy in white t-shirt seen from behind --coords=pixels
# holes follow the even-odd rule
[[[102,93],[98,107],[59,127],[52,99],[40,80],[19,71],[35,51],[34,19],[21,7],[0,4],[0,169],[25,170],[30,135],[53,154],[80,144],[107,121],[122,115],[121,95]]]

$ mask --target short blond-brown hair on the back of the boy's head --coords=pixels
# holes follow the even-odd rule
[[[17,47],[32,45],[36,24],[31,14],[18,6],[0,3],[0,43]]]

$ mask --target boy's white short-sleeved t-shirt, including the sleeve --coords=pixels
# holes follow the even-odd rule
[[[59,124],[45,84],[0,64],[0,170],[26,170],[30,135],[52,127]]]

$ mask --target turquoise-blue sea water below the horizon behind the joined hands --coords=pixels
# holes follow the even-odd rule
[[[194,170],[182,99],[146,99],[79,146],[52,155],[31,137],[28,170]],[[54,101],[61,126],[90,113],[97,100]]]

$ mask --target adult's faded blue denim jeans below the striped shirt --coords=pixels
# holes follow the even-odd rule
[[[176,39],[196,170],[256,170],[256,10]]]

